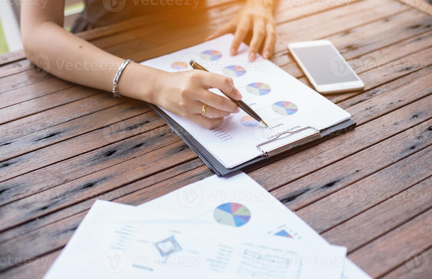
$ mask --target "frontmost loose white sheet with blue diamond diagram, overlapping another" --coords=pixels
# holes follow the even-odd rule
[[[333,279],[342,274],[344,247],[305,247],[302,241],[232,235],[202,225],[171,213],[96,201],[44,278]]]

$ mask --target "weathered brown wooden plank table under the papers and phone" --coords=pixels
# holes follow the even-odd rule
[[[430,9],[280,2],[274,63],[309,85],[286,44],[327,38],[366,87],[329,96],[352,132],[244,171],[371,276],[432,278]],[[155,14],[81,36],[142,61],[202,42],[239,6],[210,1],[197,9],[207,24]],[[1,278],[41,278],[97,198],[138,205],[213,175],[145,103],[35,77],[22,51],[0,64]]]

